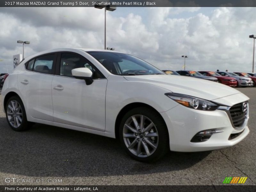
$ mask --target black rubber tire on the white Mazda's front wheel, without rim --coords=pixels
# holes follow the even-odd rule
[[[147,154],[146,154],[146,150],[145,150],[145,148],[144,148],[144,145],[145,144],[148,144],[147,142],[146,142],[146,140],[144,139],[144,137],[143,138],[139,138],[139,136],[141,135],[141,134],[139,134],[139,136],[137,136],[137,141],[138,141],[138,139],[139,140],[141,140],[141,143],[143,142],[144,144],[141,144],[141,155],[143,154],[143,150],[144,150],[144,155],[146,156],[146,157],[141,157],[141,156],[137,156],[137,155],[135,155],[135,154],[133,154],[131,151],[130,151],[130,149],[128,149],[128,146],[126,146],[126,144],[127,144],[127,141],[125,141],[126,139],[124,139],[124,136],[123,136],[123,133],[124,133],[124,131],[125,130],[129,130],[129,129],[125,129],[124,128],[124,125],[125,125],[125,123],[127,123],[127,121],[129,121],[129,119],[131,119],[132,118],[132,116],[144,116],[143,118],[145,119],[145,118],[148,118],[148,119],[146,119],[146,120],[144,120],[144,122],[145,123],[143,123],[143,124],[145,124],[145,127],[147,127],[148,125],[146,125],[146,123],[147,123],[147,121],[148,122],[150,122],[150,120],[151,120],[151,122],[154,124],[154,127],[152,128],[152,130],[150,130],[150,132],[152,131],[153,132],[153,129],[157,132],[157,134],[158,134],[158,137],[156,137],[157,139],[155,140],[155,138],[153,137],[153,140],[152,140],[152,137],[147,137],[147,136],[145,136],[145,139],[147,139],[147,141],[148,140],[150,140],[150,141],[153,141],[153,143],[154,142],[156,142],[157,141],[157,147],[155,148],[155,149],[153,149],[153,151],[154,152],[152,152],[152,154],[151,155],[149,155],[149,156],[147,156]],[[132,121],[133,122],[133,121]],[[139,122],[138,122],[139,123]],[[144,126],[144,125],[143,125]],[[144,128],[145,129],[145,128]],[[144,130],[143,129],[143,130]],[[139,129],[140,130],[140,129]],[[140,132],[142,132],[142,130],[140,131]],[[148,132],[147,134],[149,134],[150,132]],[[151,132],[151,133],[152,133]],[[139,132],[138,132],[139,133]],[[138,133],[137,133],[137,135],[138,135]],[[135,134],[136,135],[136,133],[134,132],[132,132],[132,134]],[[144,132],[143,134],[146,134],[146,132]],[[146,138],[147,137],[147,138]],[[156,160],[158,160],[158,159],[160,159],[161,157],[163,157],[164,156],[164,154],[170,149],[169,148],[169,134],[168,134],[168,130],[167,130],[167,127],[166,127],[166,124],[165,124],[165,122],[164,122],[164,120],[163,120],[163,118],[160,116],[160,114],[158,114],[155,110],[153,110],[153,109],[151,109],[151,108],[148,108],[148,107],[138,107],[138,108],[134,108],[134,109],[132,109],[132,110],[130,110],[130,111],[128,111],[125,115],[124,115],[124,117],[122,118],[122,120],[121,120],[121,123],[120,123],[120,127],[119,127],[119,138],[120,138],[120,141],[121,141],[121,143],[122,143],[122,145],[123,145],[123,147],[124,147],[124,149],[125,149],[125,151],[130,155],[130,156],[132,156],[132,158],[134,158],[134,159],[136,159],[136,160],[138,160],[138,161],[141,161],[141,162],[153,162],[153,161],[156,161]],[[128,139],[130,139],[130,138],[128,138]],[[133,140],[134,138],[131,138],[131,140]],[[143,141],[143,139],[144,139],[144,141]],[[136,139],[134,139],[134,140],[136,140]],[[125,142],[126,142],[126,144],[125,144]],[[128,141],[129,142],[129,141]],[[131,143],[132,143],[132,141],[131,141]],[[139,141],[138,141],[138,143],[139,143]],[[138,146],[139,146],[139,144],[136,144],[137,145],[137,149],[138,149]],[[148,147],[149,148],[151,148],[150,147],[150,145],[148,145]],[[133,150],[135,150],[135,148],[133,148]]]

